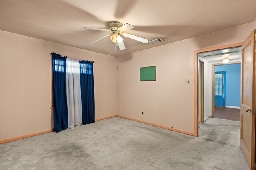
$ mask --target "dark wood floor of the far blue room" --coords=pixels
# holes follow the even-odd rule
[[[240,121],[240,109],[214,107],[214,117],[219,119]]]

